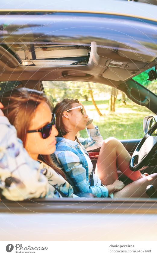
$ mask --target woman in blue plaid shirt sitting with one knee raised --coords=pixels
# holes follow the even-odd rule
[[[147,197],[146,187],[150,184],[157,187],[157,174],[144,177],[140,171],[132,172],[129,168],[130,154],[122,143],[113,137],[104,141],[98,126],[91,123],[78,100],[64,99],[56,104],[54,112],[59,134],[53,155],[62,166],[74,193],[88,192],[97,197]],[[77,133],[85,128],[89,137],[78,140]],[[86,150],[98,147],[101,149],[94,174]],[[117,168],[134,182],[125,186],[118,180]]]

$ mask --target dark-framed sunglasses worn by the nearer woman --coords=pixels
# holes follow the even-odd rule
[[[55,120],[55,114],[52,113],[52,116],[53,116],[53,118],[52,118],[51,123],[49,123],[49,124],[43,126],[41,129],[32,130],[32,131],[27,131],[27,132],[28,132],[28,133],[31,133],[31,132],[41,132],[42,138],[43,138],[43,139],[47,139],[47,138],[50,136],[50,134],[51,134],[52,126],[53,126],[53,125],[55,126],[55,122],[56,122],[56,120]]]

